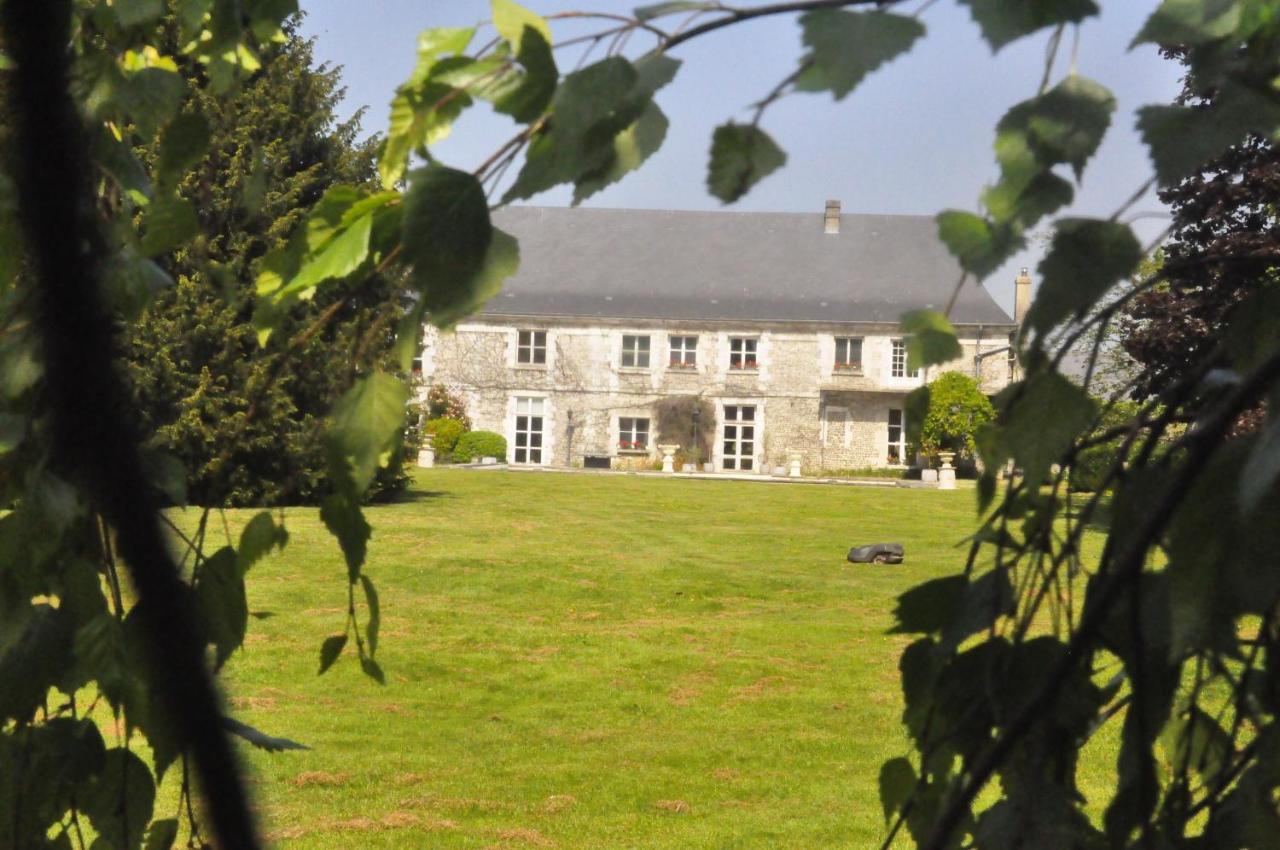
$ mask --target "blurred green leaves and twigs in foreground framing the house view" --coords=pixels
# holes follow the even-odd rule
[[[1055,74],[1068,28],[1098,13],[1094,0],[957,1],[995,50],[1048,32],[1043,84],[997,124],[1000,175],[983,191],[980,211],[948,210],[937,219],[966,273],[960,285],[972,285],[1073,200],[1070,178],[1080,180],[1116,101],[1074,63],[1066,76]],[[252,321],[260,344],[288,337],[284,347],[301,349],[314,332],[291,330],[300,305],[388,275],[403,279],[413,296],[397,328],[398,371],[407,374],[424,320],[456,323],[518,264],[515,239],[492,225],[492,195],[511,202],[567,184],[581,201],[621,179],[666,134],[654,96],[681,68],[671,55],[676,47],[741,20],[801,12],[805,52],[796,70],[749,120],[713,134],[708,188],[722,201],[737,200],[786,159],[762,128],[768,106],[792,92],[844,99],[920,38],[932,4],[914,14],[900,14],[906,4],[895,0],[869,10],[831,5],[660,3],[604,18],[607,28],[585,41],[556,45],[548,19],[493,0],[497,37],[476,40],[472,28],[422,33],[417,67],[397,91],[380,145],[381,187],[330,188],[259,264]],[[24,794],[42,789],[24,796],[24,805],[9,800],[5,808],[20,817],[0,819],[0,828],[17,831],[6,837],[20,845],[83,845],[74,830],[82,814],[101,844],[141,844],[152,814],[152,769],[128,746],[106,749],[95,737],[77,702],[79,687],[92,682],[143,732],[155,774],[182,759],[186,776],[189,753],[218,838],[252,847],[243,782],[221,730],[268,745],[278,739],[228,727],[201,652],[216,668],[243,641],[244,572],[283,544],[283,529],[264,512],[237,547],[207,553],[202,522],[184,540],[178,580],[156,513],[154,484],[165,477],[142,472],[122,387],[108,369],[113,347],[101,298],[111,292],[102,284],[113,279],[113,262],[155,278],[138,261],[184,245],[198,229],[175,180],[207,140],[179,115],[178,60],[196,63],[210,91],[229,91],[259,69],[261,42],[279,37],[291,4],[183,0],[173,6],[175,50],[155,38],[160,3],[74,10],[73,28],[65,1],[3,6],[17,138],[13,187],[0,182],[10,329],[0,383],[5,485],[14,504],[0,518],[0,757],[5,767],[22,766],[24,777],[37,764],[49,776],[23,786]],[[641,32],[654,49],[628,56],[628,37]],[[1275,0],[1160,4],[1137,42],[1183,50],[1199,102],[1138,110],[1155,174],[1134,187],[1134,201],[1152,186],[1178,186],[1249,134],[1280,129],[1277,41]],[[557,49],[602,44],[603,58],[588,64],[580,54],[581,67],[561,73]],[[72,72],[93,81],[91,91],[64,84]],[[475,172],[430,157],[430,146],[477,99],[513,118],[516,136]],[[81,132],[86,119],[92,146]],[[156,138],[159,154],[145,168],[132,148]],[[425,165],[411,169],[415,152]],[[1265,274],[1244,271],[1262,279],[1224,314],[1210,351],[1123,424],[1107,426],[1111,401],[1100,407],[1089,397],[1092,374],[1082,388],[1059,370],[1071,346],[1101,338],[1128,298],[1185,264],[1230,280],[1239,261],[1258,259],[1228,245],[1220,255],[1166,261],[1160,274],[1112,300],[1114,287],[1155,247],[1138,242],[1124,220],[1128,207],[1106,219],[1053,221],[1042,285],[1018,341],[1024,376],[1000,394],[996,420],[975,438],[987,470],[1011,465],[1019,474],[1004,485],[989,472],[979,479],[980,524],[964,572],[899,600],[896,631],[915,636],[901,659],[914,751],[881,772],[886,845],[902,827],[931,850],[1253,847],[1280,835],[1280,526],[1268,521],[1280,511],[1280,422],[1270,413],[1257,433],[1229,439],[1239,416],[1280,387],[1280,291],[1270,262]],[[141,238],[123,225],[133,216]],[[14,224],[24,246],[13,238]],[[15,278],[22,262],[31,274]],[[334,321],[343,305],[334,301],[312,325]],[[960,353],[940,312],[905,315],[902,333],[909,369]],[[95,399],[92,429],[77,406],[81,397]],[[330,413],[325,454],[334,492],[320,518],[347,563],[347,607],[342,631],[321,646],[321,671],[353,644],[361,668],[385,681],[375,659],[380,604],[365,571],[371,529],[361,501],[396,456],[407,398],[392,371],[370,369]],[[1066,470],[1078,454],[1116,439],[1121,451],[1100,492],[1076,501]],[[1080,539],[1107,499],[1107,544],[1098,558],[1084,558]],[[120,591],[122,565],[137,588],[132,607]],[[1096,823],[1082,809],[1078,753],[1108,723],[1120,725],[1119,785]],[[992,780],[1001,796],[988,804],[982,795]],[[184,799],[189,787],[183,783]],[[13,794],[12,786],[3,790]],[[163,846],[177,823],[163,819],[150,830],[148,840]]]

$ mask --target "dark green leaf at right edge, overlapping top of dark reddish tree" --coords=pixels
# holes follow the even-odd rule
[[[1161,186],[1174,186],[1249,133],[1280,127],[1280,105],[1243,86],[1224,86],[1212,106],[1143,106],[1138,131]]]

